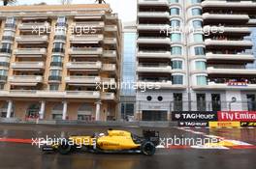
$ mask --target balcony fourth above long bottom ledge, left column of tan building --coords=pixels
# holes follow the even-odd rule
[[[48,42],[48,36],[39,35],[22,35],[16,37],[16,42],[18,43],[45,43]]]

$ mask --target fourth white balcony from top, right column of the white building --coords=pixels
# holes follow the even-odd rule
[[[205,41],[206,45],[215,45],[215,46],[238,46],[238,47],[252,47],[253,42],[245,40],[211,40],[207,39]]]

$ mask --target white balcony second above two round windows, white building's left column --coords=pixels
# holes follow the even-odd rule
[[[137,71],[140,72],[172,72],[172,67],[168,65],[156,65],[156,64],[149,64],[149,65],[139,65]]]

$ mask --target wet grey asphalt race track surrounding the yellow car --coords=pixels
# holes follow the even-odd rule
[[[141,135],[143,128],[127,129]],[[35,125],[0,125],[0,168],[2,169],[255,169],[256,128],[154,128],[162,138],[223,137],[236,140],[239,146],[227,149],[197,149],[188,146],[159,148],[153,156],[145,155],[74,155],[43,154],[26,143],[37,137],[90,135],[105,127],[51,127]],[[1,141],[2,139],[2,141]],[[23,140],[23,141],[22,141]],[[243,145],[243,147],[240,147]],[[246,145],[246,146],[244,146]],[[250,145],[247,147],[247,145]]]

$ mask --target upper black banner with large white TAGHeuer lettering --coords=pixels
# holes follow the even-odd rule
[[[217,121],[216,111],[174,111],[172,120],[179,122],[208,122]]]

